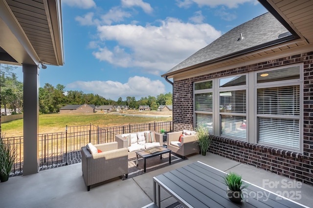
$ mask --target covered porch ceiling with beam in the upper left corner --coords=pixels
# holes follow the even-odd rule
[[[0,0],[0,63],[63,65],[61,0]]]

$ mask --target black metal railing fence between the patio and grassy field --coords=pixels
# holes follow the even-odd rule
[[[96,125],[66,126],[65,132],[38,134],[39,161],[41,169],[55,166],[65,166],[76,163],[75,154],[79,154],[82,146],[88,143],[102,144],[115,141],[115,134],[132,133],[152,130],[160,132],[173,131],[173,122],[154,122],[147,124],[121,125],[99,127]],[[20,137],[1,138],[4,143],[15,146],[17,159],[12,167],[13,175],[22,174],[23,169],[23,143]]]

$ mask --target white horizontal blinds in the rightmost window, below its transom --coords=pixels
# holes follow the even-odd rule
[[[299,85],[258,89],[258,142],[299,149],[299,115]]]

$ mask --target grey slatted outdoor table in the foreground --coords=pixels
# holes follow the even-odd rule
[[[227,198],[226,186],[222,183],[225,174],[221,170],[198,161],[158,175],[153,177],[154,202],[160,207],[160,187],[162,187],[185,208],[306,207],[249,183],[243,192],[245,202],[233,203]]]

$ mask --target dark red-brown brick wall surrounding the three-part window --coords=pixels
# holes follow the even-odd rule
[[[193,129],[194,82],[300,62],[304,63],[303,154],[218,136],[215,136],[209,151],[313,185],[313,51],[175,81],[173,90],[174,131]]]

